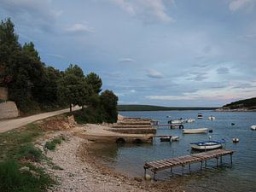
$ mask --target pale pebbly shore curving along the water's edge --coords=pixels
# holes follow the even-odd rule
[[[55,164],[49,166],[44,162],[44,170],[55,177],[59,184],[49,189],[49,192],[101,192],[101,191],[180,191],[163,183],[144,181],[142,177],[125,177],[106,166],[97,163],[96,157],[88,153],[90,141],[74,136],[75,131],[91,130],[91,126],[76,127],[73,131],[59,131],[54,135],[62,135],[67,141],[58,145],[54,151],[47,151],[45,155]],[[98,127],[99,129],[99,127]],[[99,129],[100,130],[100,129]],[[52,136],[48,136],[52,137]],[[44,141],[45,142],[45,141]]]

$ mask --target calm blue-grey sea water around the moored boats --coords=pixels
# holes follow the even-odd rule
[[[203,119],[196,119],[197,113],[203,113]],[[161,160],[185,154],[191,154],[189,143],[212,139],[226,140],[226,149],[235,150],[233,165],[230,165],[230,155],[224,157],[224,165],[216,166],[216,160],[207,163],[207,169],[200,171],[200,163],[191,166],[192,173],[185,169],[185,176],[170,177],[170,170],[157,174],[157,178],[169,180],[183,185],[187,191],[256,191],[256,131],[250,130],[256,125],[254,112],[214,112],[214,111],[160,111],[160,112],[121,112],[127,117],[153,118],[166,125],[166,116],[172,119],[195,118],[195,123],[185,124],[184,128],[207,127],[212,133],[185,134],[180,129],[160,128],[157,134],[169,134],[180,137],[178,142],[160,143],[156,139],[152,144],[117,144],[99,145],[97,154],[102,154],[105,163],[118,172],[131,177],[143,176],[145,161]],[[208,120],[213,115],[216,120]],[[231,125],[234,123],[235,125]],[[239,143],[232,143],[232,138],[239,138]],[[181,174],[180,168],[174,172]],[[150,172],[148,172],[150,173]]]

